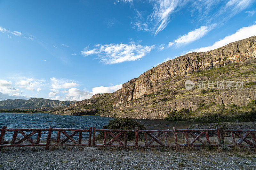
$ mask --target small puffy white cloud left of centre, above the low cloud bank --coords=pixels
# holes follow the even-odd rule
[[[54,89],[68,89],[72,87],[77,87],[79,84],[76,82],[72,82],[73,80],[68,80],[68,79],[57,79],[57,78],[50,78],[51,79],[51,85],[52,88]]]

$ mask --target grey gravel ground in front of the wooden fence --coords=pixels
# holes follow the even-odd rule
[[[0,169],[256,169],[255,151],[200,151],[168,148],[84,150],[78,147],[8,148]]]

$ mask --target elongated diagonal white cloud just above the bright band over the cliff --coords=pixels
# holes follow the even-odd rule
[[[190,42],[196,41],[196,40],[202,38],[204,35],[206,35],[215,26],[216,26],[216,24],[212,24],[211,26],[201,26],[200,28],[190,31],[185,35],[182,35],[180,38],[174,40],[173,42],[169,42],[168,46],[170,47],[173,44],[176,44],[177,46],[179,46],[182,44],[188,44]]]

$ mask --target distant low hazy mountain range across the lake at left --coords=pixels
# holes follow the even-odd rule
[[[36,109],[39,107],[68,107],[76,101],[60,101],[43,98],[31,98],[29,100],[15,99],[0,101],[0,109]]]

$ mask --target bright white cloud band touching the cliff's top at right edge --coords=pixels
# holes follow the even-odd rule
[[[225,46],[225,45],[227,45],[231,42],[242,40],[242,39],[245,39],[245,38],[249,38],[249,37],[254,36],[254,35],[256,35],[256,24],[252,25],[252,26],[248,26],[248,27],[243,27],[243,28],[237,30],[236,33],[224,37],[223,39],[221,39],[220,41],[215,42],[211,46],[192,49],[192,50],[188,51],[186,54],[192,53],[192,52],[210,51],[210,50],[213,50],[213,49],[223,47],[223,46]]]

